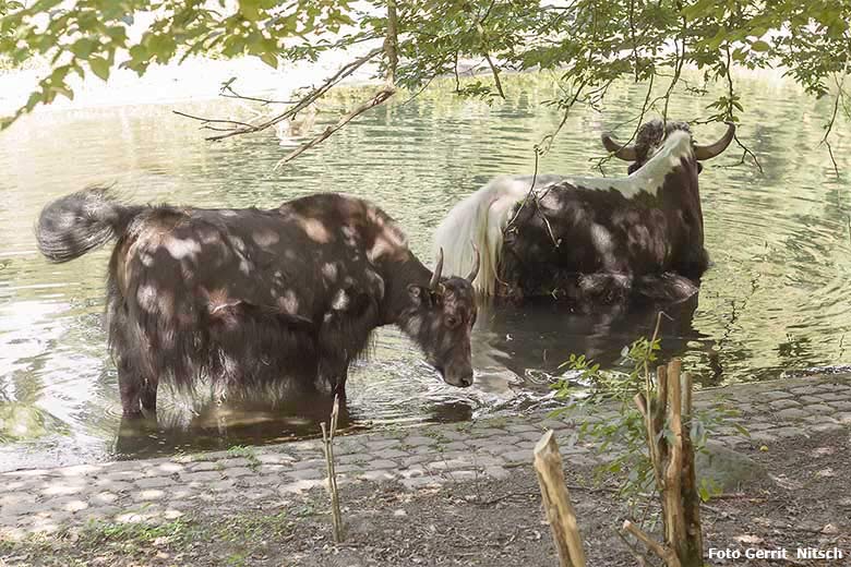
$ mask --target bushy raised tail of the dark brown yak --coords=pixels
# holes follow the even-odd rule
[[[50,262],[69,262],[118,238],[144,207],[125,206],[107,188],[58,198],[38,217],[36,241]]]

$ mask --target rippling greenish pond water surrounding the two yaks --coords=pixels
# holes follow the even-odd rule
[[[112,182],[137,202],[208,207],[348,192],[379,203],[431,263],[432,230],[453,204],[493,176],[531,172],[532,146],[560,119],[541,104],[558,95],[541,77],[516,76],[508,86],[508,100],[492,106],[445,89],[400,98],[280,171],[273,166],[292,142],[281,146],[269,132],[211,144],[171,112],[221,114],[223,100],[47,111],[0,133],[0,470],[314,435],[328,410],[315,400],[189,402],[165,390],[156,427],[122,424],[103,326],[109,250],[48,264],[33,237],[48,201]],[[742,89],[748,108],[740,135],[765,172],[736,165],[733,148],[705,164],[714,265],[699,295],[667,310],[662,324],[663,355],[682,357],[702,386],[842,371],[851,362],[848,124],[834,140],[837,176],[818,145],[828,101],[770,81],[745,80]],[[346,96],[353,95],[323,108],[317,126],[336,120]],[[625,87],[603,112],[577,109],[540,171],[592,174],[600,132],[643,99],[643,91]],[[671,114],[691,120],[705,113],[703,105],[683,96]],[[695,129],[700,142],[722,132]],[[623,174],[624,166],[608,164],[606,172]],[[622,348],[649,336],[654,323],[654,313],[483,307],[474,337],[477,384],[465,390],[442,384],[398,330],[383,328],[372,358],[350,374],[345,421],[355,430],[539,408],[551,403],[544,383],[570,353],[616,366]]]

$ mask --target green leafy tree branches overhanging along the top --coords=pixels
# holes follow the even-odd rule
[[[388,25],[389,7],[396,0],[0,1],[0,57],[50,61],[16,116],[58,95],[73,97],[73,75],[106,80],[116,67],[142,74],[195,53],[250,55],[277,67],[386,35],[397,49],[384,53],[379,71],[395,68],[396,86],[457,77],[459,62],[472,59],[492,81],[456,82],[457,92],[491,99],[503,95],[504,70],[556,70],[563,95],[553,104],[565,112],[600,104],[616,79],[630,75],[649,83],[642,118],[654,108],[667,116],[674,87],[705,93],[681,77],[692,65],[728,86],[709,102],[707,120],[738,120],[745,110],[734,67],[782,65],[807,93],[839,100],[851,60],[851,0],[425,0],[399,3],[396,26]],[[669,86],[650,100],[656,81]]]

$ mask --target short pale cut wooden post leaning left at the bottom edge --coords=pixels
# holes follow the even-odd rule
[[[541,498],[550,522],[561,567],[585,567],[585,551],[576,524],[576,512],[564,483],[564,468],[559,445],[548,430],[535,446],[535,471],[541,486]]]

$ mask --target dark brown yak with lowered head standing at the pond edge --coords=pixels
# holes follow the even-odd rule
[[[36,237],[52,262],[118,239],[107,314],[125,415],[155,412],[160,379],[191,390],[202,375],[248,391],[288,377],[345,396],[350,362],[387,324],[447,384],[472,384],[478,267],[443,278],[441,257],[432,274],[365,201],[202,209],[122,205],[89,189],[46,206]]]

